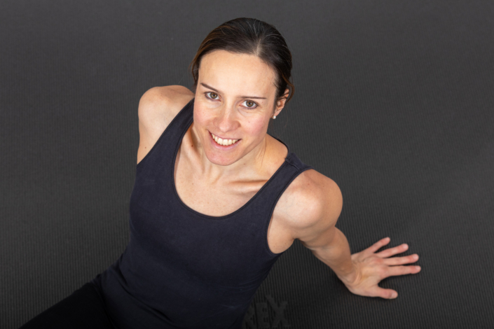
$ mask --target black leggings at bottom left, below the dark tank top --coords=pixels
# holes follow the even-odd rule
[[[116,329],[104,311],[102,297],[90,282],[20,327],[34,328]]]

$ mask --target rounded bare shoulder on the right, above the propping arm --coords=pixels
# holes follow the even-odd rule
[[[333,227],[343,208],[338,184],[315,169],[299,174],[281,200],[281,221],[292,238],[302,243]]]

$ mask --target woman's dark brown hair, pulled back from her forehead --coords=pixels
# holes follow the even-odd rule
[[[290,82],[291,52],[283,36],[273,25],[255,18],[235,18],[210,31],[189,66],[194,78],[194,88],[198,83],[200,60],[214,50],[256,55],[276,73],[275,102],[283,97],[287,87],[287,102],[294,95],[295,87]]]

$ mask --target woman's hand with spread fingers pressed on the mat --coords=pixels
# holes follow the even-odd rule
[[[354,274],[355,279],[349,281],[348,278],[340,278],[348,290],[356,295],[392,299],[398,297],[398,293],[392,289],[380,288],[378,283],[382,279],[388,276],[420,272],[420,266],[393,266],[416,262],[418,260],[417,254],[387,258],[406,251],[409,248],[406,244],[375,253],[380,247],[388,243],[390,243],[390,238],[385,237],[369,248],[352,254],[352,263],[357,273]]]

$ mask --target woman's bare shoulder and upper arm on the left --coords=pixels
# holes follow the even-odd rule
[[[139,149],[137,163],[151,151],[177,113],[194,97],[181,85],[153,87],[139,101]]]

